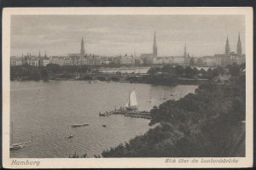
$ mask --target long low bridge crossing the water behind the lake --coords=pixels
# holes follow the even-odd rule
[[[75,79],[75,80],[100,80],[100,81],[142,81],[147,73],[75,73],[75,74],[57,74],[53,79]]]

